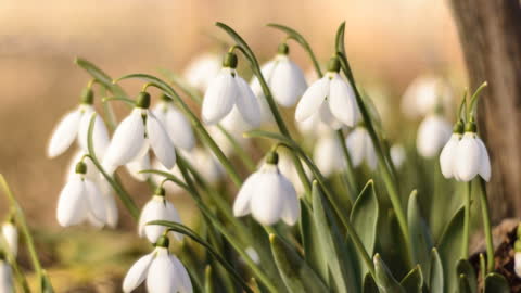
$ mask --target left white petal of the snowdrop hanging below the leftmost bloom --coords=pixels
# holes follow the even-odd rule
[[[56,218],[63,226],[78,225],[87,216],[87,194],[84,181],[77,177],[68,181],[58,200]]]

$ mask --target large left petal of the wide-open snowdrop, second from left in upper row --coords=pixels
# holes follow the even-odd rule
[[[103,158],[106,171],[134,161],[145,145],[144,124],[141,110],[135,109],[116,128],[111,144]]]

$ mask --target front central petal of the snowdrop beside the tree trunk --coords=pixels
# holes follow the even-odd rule
[[[461,181],[472,180],[480,170],[481,148],[475,135],[466,132],[458,143],[456,171]]]

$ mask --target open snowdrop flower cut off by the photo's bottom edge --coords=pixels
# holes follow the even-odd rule
[[[192,283],[181,262],[168,252],[169,241],[161,237],[152,253],[136,262],[123,280],[123,292],[136,290],[147,279],[149,293],[192,293]]]

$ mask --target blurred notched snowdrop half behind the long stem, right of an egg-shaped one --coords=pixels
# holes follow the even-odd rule
[[[358,167],[363,162],[366,162],[371,170],[377,168],[377,152],[366,127],[357,126],[347,136],[345,143],[353,162],[353,167]]]

